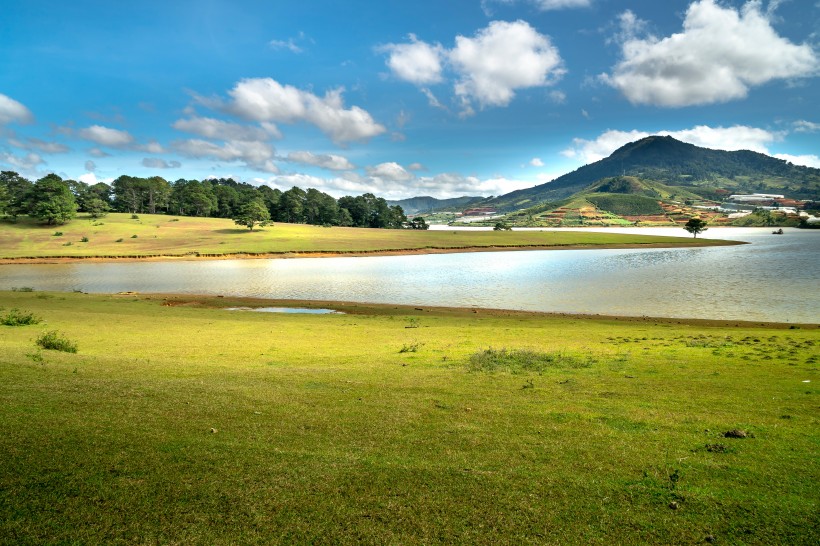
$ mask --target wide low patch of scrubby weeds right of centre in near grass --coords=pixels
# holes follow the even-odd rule
[[[589,368],[595,360],[589,355],[573,355],[563,351],[539,352],[530,349],[484,349],[470,356],[467,370],[471,372],[543,373],[550,368]]]

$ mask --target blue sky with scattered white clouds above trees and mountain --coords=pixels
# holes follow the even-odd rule
[[[0,0],[0,170],[502,195],[651,134],[820,168],[820,0]]]

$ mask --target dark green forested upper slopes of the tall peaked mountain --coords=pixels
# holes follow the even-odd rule
[[[609,157],[585,165],[552,182],[514,191],[482,204],[515,210],[543,201],[555,201],[590,184],[620,175],[656,180],[669,186],[687,186],[712,193],[783,193],[802,199],[820,199],[820,169],[748,150],[727,152],[701,148],[669,136],[650,136],[619,148]]]

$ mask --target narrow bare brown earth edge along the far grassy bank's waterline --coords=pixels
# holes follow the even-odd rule
[[[742,241],[721,239],[703,239],[686,244],[675,243],[624,243],[624,244],[575,244],[575,245],[494,245],[466,247],[426,247],[385,250],[317,250],[317,251],[283,251],[283,252],[236,252],[208,254],[188,252],[185,254],[146,254],[146,255],[94,255],[94,256],[21,256],[0,258],[0,265],[14,264],[60,264],[73,262],[156,262],[156,261],[200,261],[200,260],[272,260],[294,258],[365,258],[372,256],[414,256],[424,254],[461,254],[474,252],[511,252],[533,250],[618,250],[641,248],[700,248],[712,246],[734,246],[748,244]]]

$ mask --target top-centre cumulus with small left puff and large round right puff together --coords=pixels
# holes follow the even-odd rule
[[[550,38],[525,21],[493,21],[474,36],[456,36],[446,49],[410,35],[410,43],[388,44],[387,66],[405,81],[420,86],[432,106],[442,107],[429,85],[444,80],[444,68],[454,73],[453,91],[462,115],[480,108],[506,106],[516,91],[552,85],[566,70]],[[565,98],[565,97],[563,97]]]

